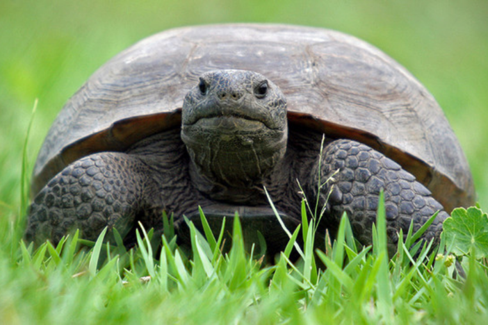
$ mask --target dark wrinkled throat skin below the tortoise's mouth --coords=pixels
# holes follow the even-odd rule
[[[282,168],[286,152],[288,130],[273,133],[254,138],[206,134],[204,141],[187,142],[190,177],[197,190],[218,201],[261,203],[263,185]]]

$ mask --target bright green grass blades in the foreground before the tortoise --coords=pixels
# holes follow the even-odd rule
[[[453,256],[437,255],[431,244],[412,247],[418,234],[411,232],[390,260],[384,216],[380,203],[373,249],[355,242],[343,217],[336,240],[327,238],[316,254],[311,219],[298,261],[288,258],[300,227],[274,265],[245,251],[238,218],[228,253],[220,250],[222,235],[205,229],[205,238],[193,224],[189,255],[171,229],[162,249],[144,228],[130,251],[104,244],[105,231],[92,249],[79,249],[78,233],[35,251],[20,242],[13,253],[0,251],[0,323],[484,324],[486,263],[464,258],[466,278],[456,278]]]

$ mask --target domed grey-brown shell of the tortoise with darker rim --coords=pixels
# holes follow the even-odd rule
[[[260,72],[284,92],[289,119],[381,151],[448,211],[473,203],[473,180],[457,138],[432,95],[405,68],[343,33],[268,24],[172,29],[108,61],[51,127],[35,165],[33,194],[82,156],[121,151],[179,126],[184,95],[213,69]]]

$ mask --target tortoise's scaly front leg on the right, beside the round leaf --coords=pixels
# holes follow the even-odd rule
[[[323,151],[321,177],[325,181],[339,169],[330,199],[327,202],[325,226],[335,229],[339,218],[346,212],[355,238],[362,244],[372,244],[371,226],[376,220],[380,191],[384,190],[387,217],[389,253],[393,255],[398,244],[398,232],[406,236],[410,223],[417,231],[430,217],[440,210],[437,218],[423,234],[423,240],[439,239],[442,222],[448,217],[443,207],[430,191],[400,165],[371,147],[351,140],[336,140]],[[311,174],[311,192],[317,194],[318,163]],[[322,203],[329,190],[318,195]]]

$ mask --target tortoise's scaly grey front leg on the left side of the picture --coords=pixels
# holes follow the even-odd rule
[[[155,184],[149,167],[126,153],[96,153],[56,175],[35,197],[26,240],[57,243],[77,228],[81,238],[96,240],[108,226],[122,238],[135,225]]]

